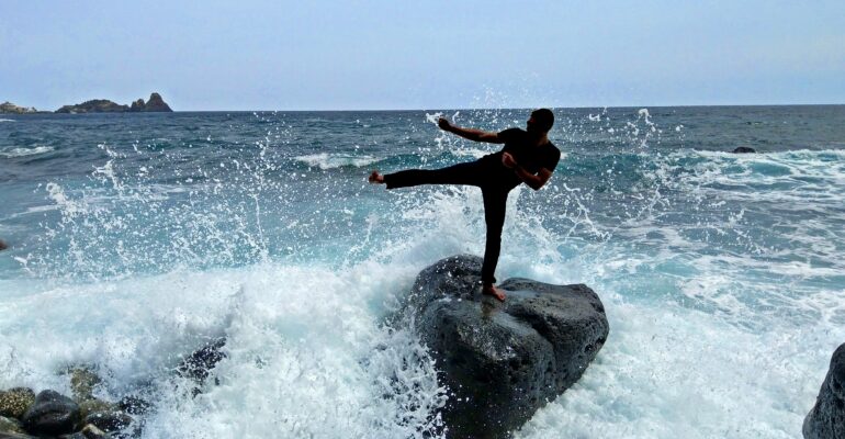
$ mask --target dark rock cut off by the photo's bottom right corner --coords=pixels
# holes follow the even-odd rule
[[[805,439],[845,438],[845,344],[836,348],[815,398],[815,406],[804,418]]]

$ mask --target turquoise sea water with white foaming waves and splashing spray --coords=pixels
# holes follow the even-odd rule
[[[103,398],[147,390],[146,438],[438,431],[436,364],[384,320],[419,270],[483,252],[481,194],[367,176],[498,149],[441,114],[529,111],[4,116],[0,389],[95,367]],[[800,436],[845,341],[845,106],[555,114],[561,162],[510,193],[497,277],[586,283],[610,336],[516,437]],[[219,336],[216,383],[180,391]]]

